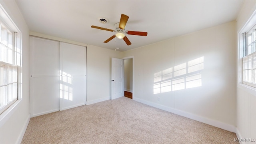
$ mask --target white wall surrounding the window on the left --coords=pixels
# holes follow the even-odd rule
[[[29,104],[29,35],[26,22],[15,1],[0,1],[6,12],[22,32],[22,100],[8,113],[1,117],[0,143],[16,144],[21,142],[30,120]]]

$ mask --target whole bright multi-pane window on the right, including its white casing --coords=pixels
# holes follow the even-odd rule
[[[238,34],[239,84],[256,90],[256,10]]]

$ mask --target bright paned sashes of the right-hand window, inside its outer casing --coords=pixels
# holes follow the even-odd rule
[[[243,33],[243,83],[256,88],[256,26]]]

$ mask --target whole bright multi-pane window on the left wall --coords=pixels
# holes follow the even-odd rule
[[[0,114],[20,99],[20,31],[0,5]]]

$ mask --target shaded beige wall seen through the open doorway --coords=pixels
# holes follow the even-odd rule
[[[132,58],[124,60],[124,90],[132,92]]]

